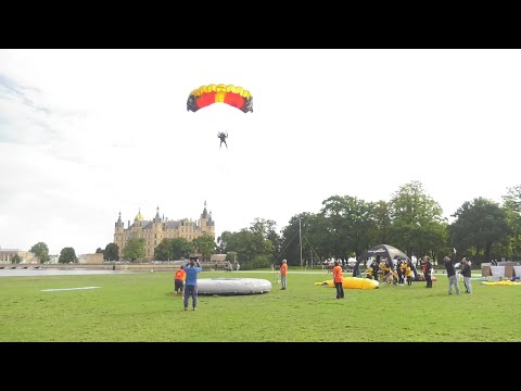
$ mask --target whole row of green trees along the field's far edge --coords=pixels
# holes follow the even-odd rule
[[[398,188],[390,201],[367,202],[351,195],[331,195],[318,213],[303,212],[277,231],[277,223],[255,218],[247,228],[224,231],[214,242],[209,236],[192,241],[163,239],[154,260],[186,258],[200,253],[209,261],[213,253],[227,254],[241,269],[270,267],[283,258],[290,265],[318,264],[325,260],[359,256],[369,248],[386,243],[407,255],[429,255],[440,261],[453,248],[474,264],[491,260],[521,258],[521,185],[507,188],[503,203],[475,198],[443,217],[440,204],[425,193],[420,181]],[[302,245],[301,245],[302,243]],[[31,250],[40,262],[49,261],[49,249],[40,242]],[[99,248],[105,261],[118,260],[115,243]],[[302,253],[302,258],[301,258]],[[123,249],[125,260],[144,258],[144,240],[131,239]],[[64,248],[59,262],[77,262],[73,248]]]

